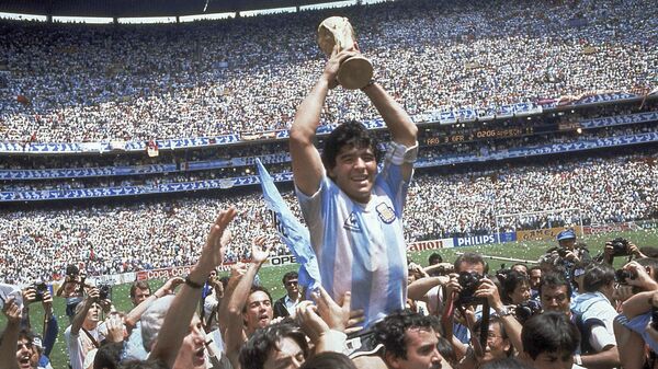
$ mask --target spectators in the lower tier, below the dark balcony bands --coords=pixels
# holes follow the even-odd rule
[[[654,157],[591,158],[564,163],[518,165],[496,172],[420,174],[409,192],[405,234],[409,242],[546,228],[531,216],[497,216],[547,209],[578,209],[553,224],[610,223],[655,218],[658,166]],[[297,218],[292,192],[284,198]],[[273,230],[260,191],[219,197],[143,200],[134,205],[97,205],[71,209],[4,210],[0,247],[5,281],[50,280],[67,264],[86,264],[90,275],[118,274],[190,265],[194,245],[217,204],[235,204],[235,245]],[[497,223],[498,222],[498,223]],[[275,254],[288,253],[277,244]],[[227,262],[249,257],[227,250]],[[20,262],[19,262],[20,261]]]

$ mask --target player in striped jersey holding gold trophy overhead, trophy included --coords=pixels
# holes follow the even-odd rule
[[[364,311],[364,330],[348,341],[348,349],[354,349],[352,357],[356,357],[377,350],[372,325],[405,308],[407,257],[401,217],[418,153],[418,129],[372,80],[372,66],[353,37],[347,19],[334,16],[320,25],[318,43],[329,60],[297,109],[290,149],[296,194],[322,286],[334,300],[351,292],[351,310]],[[327,94],[339,84],[365,93],[386,123],[393,140],[382,172],[377,145],[361,123],[338,126],[326,138],[321,155],[314,146]]]

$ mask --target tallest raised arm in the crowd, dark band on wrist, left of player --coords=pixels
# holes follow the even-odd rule
[[[164,322],[158,334],[158,341],[150,358],[163,360],[169,368],[173,367],[183,338],[190,331],[190,323],[201,299],[201,287],[208,274],[220,265],[224,258],[224,247],[230,241],[230,232],[226,228],[236,216],[236,209],[229,208],[219,212],[211,228],[206,244],[201,252],[198,262],[190,270],[190,275],[180,292],[171,302],[164,316]]]

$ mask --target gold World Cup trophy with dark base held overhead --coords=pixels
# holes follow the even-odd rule
[[[354,46],[354,28],[344,16],[330,16],[318,26],[318,45],[327,57],[331,57],[333,47],[338,51],[350,49]],[[373,65],[361,55],[345,59],[338,70],[338,83],[344,89],[362,89],[373,78]]]

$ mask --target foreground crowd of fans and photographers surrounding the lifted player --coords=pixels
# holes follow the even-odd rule
[[[64,339],[73,369],[582,369],[653,368],[658,348],[658,249],[608,242],[601,256],[577,243],[567,229],[538,265],[495,270],[483,255],[466,252],[454,263],[439,253],[428,264],[407,265],[406,309],[364,326],[352,296],[332,298],[324,288],[306,295],[299,275],[282,276],[273,297],[257,275],[272,244],[256,238],[250,258],[218,278],[223,250],[232,243],[236,209],[222,210],[200,240],[198,258],[185,277],[160,288],[132,284],[129,295],[107,296],[67,268],[56,292],[67,299],[58,322],[53,295],[37,285],[3,298],[7,326],[0,341],[3,368],[54,368]],[[239,224],[239,223],[238,223]],[[231,227],[229,227],[231,226]],[[593,252],[593,250],[592,250]],[[615,270],[615,257],[627,257]],[[424,263],[423,263],[424,264]],[[283,274],[283,273],[282,273]],[[624,277],[625,276],[625,277]],[[128,299],[117,311],[113,301]],[[77,299],[77,300],[76,300]],[[70,304],[68,301],[76,301]],[[43,305],[43,334],[25,311]],[[201,305],[201,310],[198,309]],[[66,328],[60,334],[60,326]],[[364,333],[365,332],[365,333]],[[375,351],[354,349],[372,334]],[[15,356],[14,356],[15,351]]]

